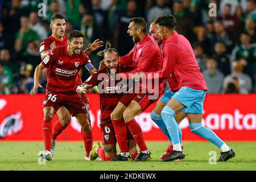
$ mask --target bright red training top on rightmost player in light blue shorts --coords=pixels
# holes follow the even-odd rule
[[[176,31],[164,42],[163,69],[155,73],[159,73],[159,78],[170,78],[174,74],[177,88],[187,86],[195,90],[208,90],[191,44]]]

